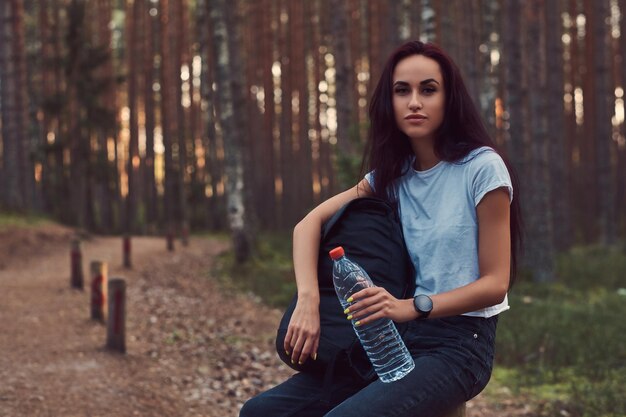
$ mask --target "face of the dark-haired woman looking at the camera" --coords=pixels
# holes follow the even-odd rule
[[[439,63],[424,55],[402,59],[393,71],[396,124],[411,141],[434,143],[445,113],[445,90]]]

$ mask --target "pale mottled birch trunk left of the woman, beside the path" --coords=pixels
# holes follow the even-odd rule
[[[251,253],[251,241],[248,235],[246,207],[244,197],[243,174],[243,126],[235,119],[235,109],[241,109],[241,68],[236,54],[238,45],[232,38],[232,30],[238,30],[233,7],[228,7],[226,0],[209,0],[211,26],[213,28],[213,47],[215,50],[215,81],[217,99],[220,102],[219,120],[224,136],[224,171],[226,175],[226,198],[228,223],[230,226],[235,259],[246,262]],[[231,30],[229,30],[231,29]]]

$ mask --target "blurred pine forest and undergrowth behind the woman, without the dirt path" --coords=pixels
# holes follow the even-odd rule
[[[522,183],[495,377],[547,413],[624,416],[625,16],[625,0],[3,0],[0,207],[98,234],[226,232],[225,268],[283,306],[289,230],[363,174],[385,59],[435,42]]]

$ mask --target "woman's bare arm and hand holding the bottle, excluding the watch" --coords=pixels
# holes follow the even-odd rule
[[[509,195],[504,189],[487,193],[476,207],[478,216],[478,261],[480,278],[471,284],[432,296],[431,318],[467,313],[499,304],[509,286],[511,235],[509,230]],[[358,311],[350,311],[361,324],[381,317],[397,322],[416,319],[413,300],[398,300],[381,288],[361,290]],[[362,304],[361,304],[362,303]],[[351,310],[356,310],[356,306]]]

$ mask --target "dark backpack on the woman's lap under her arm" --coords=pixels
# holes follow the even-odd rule
[[[317,267],[321,325],[317,360],[309,358],[302,365],[292,364],[283,347],[297,294],[278,327],[276,351],[284,363],[297,371],[318,373],[326,378],[332,378],[335,371],[350,372],[367,382],[376,374],[333,287],[333,263],[328,252],[337,246],[343,246],[346,256],[361,265],[374,284],[397,298],[413,295],[413,267],[395,208],[377,198],[352,200],[322,228]],[[404,331],[405,326],[396,326],[401,333]]]

